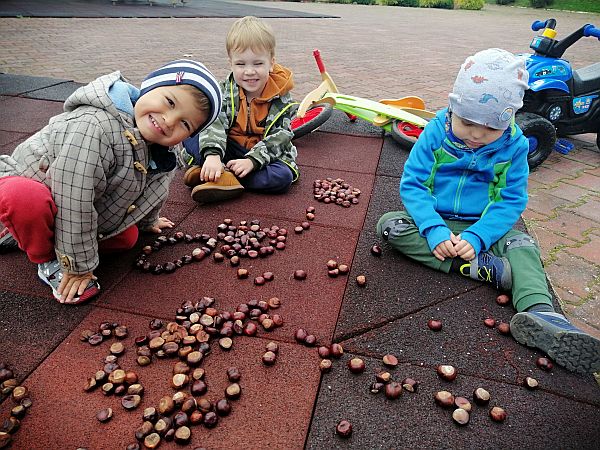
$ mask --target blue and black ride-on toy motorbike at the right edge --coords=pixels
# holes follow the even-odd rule
[[[529,47],[534,54],[526,60],[529,89],[523,107],[517,112],[517,124],[529,140],[528,162],[539,166],[553,149],[568,152],[568,141],[557,136],[599,133],[600,148],[600,62],[573,70],[562,59],[565,51],[582,37],[600,40],[600,29],[586,24],[562,40],[556,37],[556,20],[535,21],[533,31],[544,31],[533,38]]]

